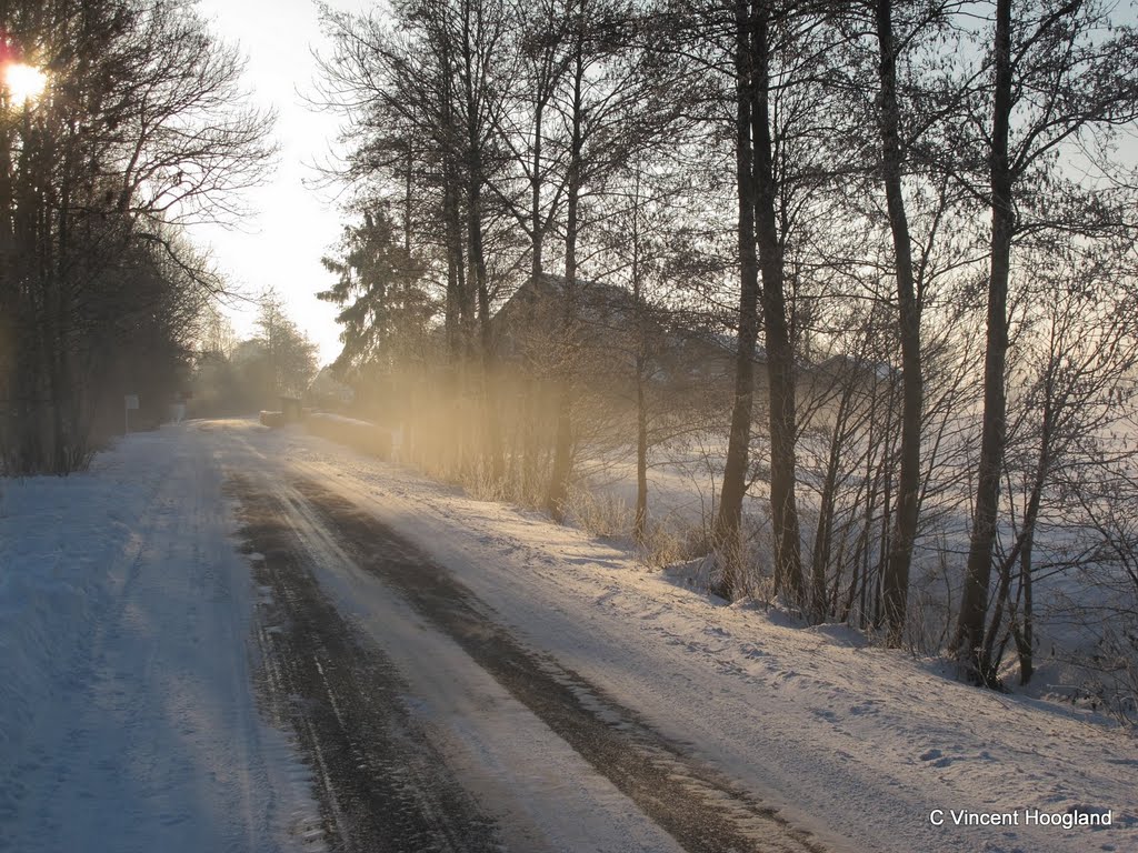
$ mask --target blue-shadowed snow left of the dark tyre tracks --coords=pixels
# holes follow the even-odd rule
[[[134,434],[90,473],[0,481],[0,850],[275,851],[316,821],[257,717],[208,438]]]

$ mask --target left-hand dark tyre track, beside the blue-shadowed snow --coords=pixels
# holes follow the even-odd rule
[[[335,851],[500,850],[493,822],[407,713],[398,672],[321,593],[290,508],[241,477],[230,491],[255,582],[271,590],[257,606],[259,689],[294,729],[321,803],[323,826],[306,840]]]

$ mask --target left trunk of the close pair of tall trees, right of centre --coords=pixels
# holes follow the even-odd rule
[[[739,530],[747,494],[751,416],[754,405],[754,350],[759,337],[759,262],[754,243],[754,149],[751,113],[754,106],[754,57],[750,32],[754,16],[749,0],[735,3],[735,188],[739,197],[736,250],[739,252],[739,332],[735,349],[735,400],[724,464],[715,544],[724,572],[715,591],[731,599],[740,587]]]

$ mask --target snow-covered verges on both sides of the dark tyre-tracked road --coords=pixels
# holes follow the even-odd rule
[[[538,514],[241,421],[132,436],[67,480],[0,482],[0,850],[311,848],[307,770],[249,684],[254,596],[222,496],[236,471],[304,475],[365,507],[533,647],[825,848],[1138,850],[1138,743],[1103,718],[965,687],[844,628],[723,606],[684,572],[646,572]],[[648,831],[621,823],[615,794],[591,811],[559,790],[574,759],[523,711],[486,721],[452,699],[442,713],[453,649],[426,628],[401,639],[389,596],[329,565],[321,583],[381,644],[435,649],[437,666],[388,648],[411,704],[483,778],[476,794],[531,786],[535,813],[519,820],[566,850],[628,848],[621,831]],[[1107,811],[1110,828],[1028,825]],[[954,826],[954,812],[1017,823]]]

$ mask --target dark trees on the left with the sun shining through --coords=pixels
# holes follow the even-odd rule
[[[236,213],[271,116],[187,0],[6,2],[0,65],[0,470],[67,473],[184,381],[221,281],[183,226]]]

